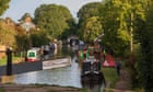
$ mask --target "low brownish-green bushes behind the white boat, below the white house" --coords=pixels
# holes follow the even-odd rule
[[[48,34],[44,31],[33,31],[31,30],[30,34],[19,34],[15,36],[16,38],[16,50],[27,50],[32,46],[40,47],[50,42]]]

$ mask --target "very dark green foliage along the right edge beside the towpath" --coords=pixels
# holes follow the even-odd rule
[[[145,92],[153,91],[153,5],[146,13],[145,27],[140,31],[141,58],[138,64],[139,77]],[[145,31],[145,32],[144,32]]]

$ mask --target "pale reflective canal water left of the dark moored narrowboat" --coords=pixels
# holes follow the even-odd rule
[[[103,84],[95,84],[92,89],[90,84],[86,84],[86,87],[81,84],[81,70],[75,61],[75,50],[64,47],[64,51],[66,49],[71,50],[71,53],[68,53],[67,50],[68,54],[71,54],[71,66],[15,74],[14,82],[17,84],[52,84],[61,87],[89,88],[89,92],[103,92]]]

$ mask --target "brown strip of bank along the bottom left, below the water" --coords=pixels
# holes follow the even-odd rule
[[[0,84],[0,92],[86,92],[86,90],[45,84]]]

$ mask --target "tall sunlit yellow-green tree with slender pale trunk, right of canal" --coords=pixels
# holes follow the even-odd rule
[[[136,22],[138,19],[144,20],[143,0],[105,0],[102,8],[102,22],[105,31],[107,45],[113,47],[116,53],[121,54],[122,48],[133,53],[134,32],[138,30]],[[111,45],[113,39],[118,45]],[[120,44],[121,43],[121,44]],[[114,43],[113,43],[114,44]],[[117,44],[117,43],[116,43]],[[119,46],[119,47],[116,47]],[[128,53],[128,51],[125,51]],[[123,55],[123,54],[121,54]]]

